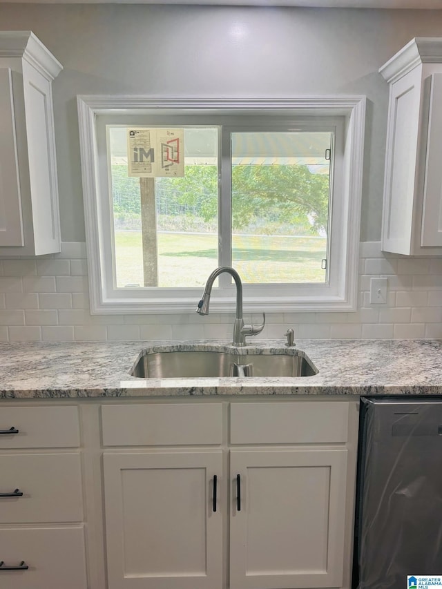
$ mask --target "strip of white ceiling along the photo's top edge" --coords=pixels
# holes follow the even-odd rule
[[[205,4],[227,6],[303,6],[311,8],[416,8],[442,10],[442,0],[0,0],[32,4]]]

